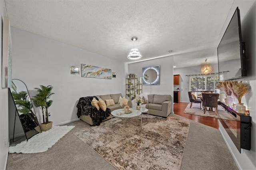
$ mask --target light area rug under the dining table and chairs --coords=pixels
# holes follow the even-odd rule
[[[192,107],[190,107],[190,103],[186,107],[183,113],[188,113],[192,115],[198,115],[198,116],[206,116],[206,117],[214,117],[214,118],[219,118],[219,119],[227,119],[227,120],[232,120],[232,121],[240,121],[240,117],[236,118],[234,117],[231,113],[225,111],[225,109],[218,105],[218,113],[217,116],[215,115],[214,111],[206,111],[204,114],[204,111],[200,109],[200,103],[193,103]]]

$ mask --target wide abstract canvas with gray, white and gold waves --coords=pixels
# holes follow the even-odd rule
[[[82,77],[91,77],[98,79],[112,79],[112,70],[96,67],[88,64],[81,64]]]

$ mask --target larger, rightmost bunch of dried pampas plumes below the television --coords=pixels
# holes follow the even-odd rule
[[[228,87],[232,91],[234,97],[238,99],[238,103],[241,103],[242,97],[248,94],[251,90],[250,84],[243,81],[229,81]]]

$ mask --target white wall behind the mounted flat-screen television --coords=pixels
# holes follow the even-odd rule
[[[225,22],[222,32],[220,34],[219,40],[222,38],[228,23],[234,14],[236,7],[240,9],[241,16],[241,29],[242,29],[242,41],[246,43],[246,58],[247,58],[247,70],[248,76],[239,80],[248,80],[252,87],[250,94],[242,97],[242,103],[248,104],[250,107],[250,116],[252,117],[252,131],[251,131],[251,150],[241,150],[241,154],[238,152],[236,146],[231,141],[230,137],[224,130],[221,123],[220,132],[222,133],[224,140],[226,141],[228,148],[238,167],[243,170],[252,170],[256,169],[256,2],[255,0],[251,1],[241,1],[235,0],[228,18]]]

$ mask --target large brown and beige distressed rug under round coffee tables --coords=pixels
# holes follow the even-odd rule
[[[74,134],[120,170],[180,169],[190,120],[176,117],[165,119],[152,115],[149,117],[142,130],[130,136],[114,133],[111,120]],[[120,121],[118,118],[113,120],[115,123]],[[130,129],[133,131],[133,128],[138,130],[136,120],[138,119],[134,118],[126,122],[126,132],[130,132]],[[118,124],[122,130],[122,123]]]

